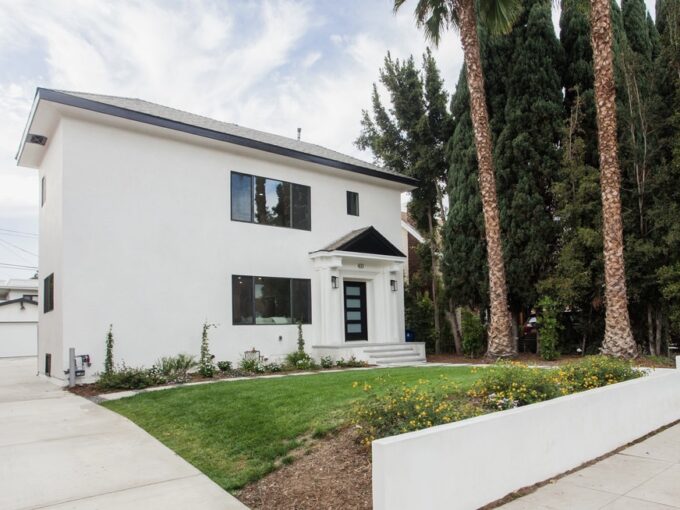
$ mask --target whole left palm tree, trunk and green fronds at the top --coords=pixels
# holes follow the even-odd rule
[[[394,0],[395,12],[406,0]],[[500,215],[493,168],[493,148],[486,107],[484,75],[477,34],[476,0],[418,0],[415,9],[416,23],[435,45],[445,28],[452,26],[460,32],[465,55],[466,77],[470,92],[470,117],[477,149],[479,192],[484,212],[486,258],[489,266],[489,347],[487,356],[508,357],[517,354],[511,333],[508,310],[508,292],[505,282],[505,264],[501,244]],[[518,0],[481,0],[480,19],[489,30],[510,30],[520,13]]]

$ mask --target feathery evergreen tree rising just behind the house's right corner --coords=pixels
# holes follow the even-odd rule
[[[371,149],[379,164],[419,180],[408,209],[418,229],[427,232],[427,258],[431,264],[421,280],[426,280],[433,303],[435,351],[439,353],[442,334],[438,218],[444,202],[445,144],[452,129],[448,95],[429,49],[423,56],[422,69],[416,67],[413,57],[402,62],[393,60],[388,53],[380,70],[380,81],[389,93],[391,108],[383,106],[374,85],[373,116],[367,111],[362,113],[362,131],[356,145],[360,149]],[[411,285],[410,289],[416,287]]]

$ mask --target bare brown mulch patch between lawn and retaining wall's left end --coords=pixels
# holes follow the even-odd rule
[[[346,428],[296,452],[291,464],[236,496],[253,510],[370,510],[371,454]]]

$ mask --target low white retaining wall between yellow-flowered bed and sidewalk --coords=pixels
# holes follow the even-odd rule
[[[373,508],[479,508],[678,419],[680,370],[657,370],[612,386],[380,439],[373,442]]]

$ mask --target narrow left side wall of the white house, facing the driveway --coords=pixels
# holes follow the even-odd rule
[[[57,126],[49,141],[38,172],[38,182],[45,178],[45,203],[39,211],[39,304],[38,370],[45,371],[45,355],[52,355],[52,375],[64,377],[63,368],[63,125]],[[40,191],[38,190],[38,193]],[[39,202],[40,203],[40,202]],[[54,309],[44,312],[45,277],[54,274]],[[66,362],[68,365],[68,362]]]

